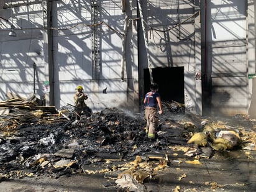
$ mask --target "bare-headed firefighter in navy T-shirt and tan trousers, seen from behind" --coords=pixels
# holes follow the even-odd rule
[[[152,83],[150,85],[150,92],[145,94],[144,98],[145,119],[147,120],[145,131],[150,140],[155,139],[155,129],[157,129],[159,119],[158,114],[163,113],[160,94],[157,91],[157,83]],[[159,111],[157,111],[157,106],[159,107]]]

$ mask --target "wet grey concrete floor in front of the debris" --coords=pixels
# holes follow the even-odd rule
[[[213,158],[200,158],[201,165],[186,163],[188,157],[169,157],[167,168],[158,171],[151,180],[144,181],[147,191],[256,191],[254,151],[215,153]],[[104,178],[104,174],[76,174],[68,177],[64,175],[57,179],[45,176],[16,178],[1,181],[0,191],[120,191],[117,186],[106,187],[106,183],[114,181]]]

